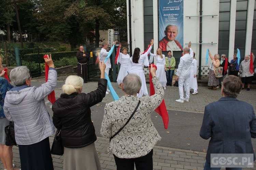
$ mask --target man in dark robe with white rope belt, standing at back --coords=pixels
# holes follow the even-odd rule
[[[84,47],[80,46],[79,51],[76,53],[76,58],[78,61],[77,64],[77,75],[84,79],[84,83],[88,81],[88,66],[87,62],[89,61],[89,54],[84,51]]]

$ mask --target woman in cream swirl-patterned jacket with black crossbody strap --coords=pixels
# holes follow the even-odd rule
[[[114,154],[117,170],[133,170],[134,163],[137,170],[153,169],[153,147],[161,137],[150,115],[161,104],[164,92],[156,77],[156,68],[151,66],[150,72],[155,95],[139,98],[137,93],[142,82],[137,74],[131,73],[121,85],[124,96],[105,106],[100,134],[111,140],[108,152]],[[123,126],[124,129],[116,134]]]

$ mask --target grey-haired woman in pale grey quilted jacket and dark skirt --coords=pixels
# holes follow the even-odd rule
[[[31,76],[26,66],[19,66],[10,72],[10,79],[16,87],[6,93],[4,114],[14,122],[15,139],[19,146],[23,170],[53,170],[49,136],[55,127],[46,109],[44,98],[56,87],[57,71],[53,60],[44,58],[49,66],[48,80],[40,87],[31,86]]]

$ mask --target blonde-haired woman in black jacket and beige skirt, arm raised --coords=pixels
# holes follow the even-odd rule
[[[64,170],[99,170],[100,162],[94,142],[97,137],[91,121],[90,107],[101,102],[106,94],[106,65],[100,62],[101,79],[98,88],[82,93],[83,79],[70,75],[62,86],[64,94],[52,106],[53,124],[61,129],[64,146]]]

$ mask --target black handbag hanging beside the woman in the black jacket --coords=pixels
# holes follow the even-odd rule
[[[51,149],[51,153],[53,155],[63,155],[64,153],[64,147],[62,146],[62,143],[61,143],[60,131],[61,129],[58,129],[54,136],[53,145]]]

